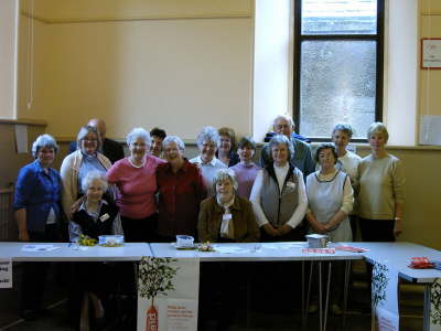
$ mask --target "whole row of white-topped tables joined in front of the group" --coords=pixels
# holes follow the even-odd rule
[[[302,248],[306,243],[248,243],[248,244],[214,244],[218,247],[240,247],[233,253],[203,253],[194,250],[176,250],[170,244],[126,243],[122,247],[88,247],[86,250],[73,249],[67,243],[53,243],[60,249],[43,253],[22,252],[23,245],[32,243],[0,243],[0,258],[10,258],[13,261],[138,261],[142,256],[194,258],[202,261],[318,261],[346,260],[366,258],[369,263],[381,263],[398,270],[399,277],[412,282],[424,285],[424,330],[429,330],[430,317],[430,287],[439,278],[441,270],[412,269],[408,265],[410,257],[424,256],[441,259],[441,252],[411,243],[342,243],[348,246],[369,249],[366,253],[336,252],[335,254],[306,254]],[[35,243],[42,244],[42,243]],[[330,271],[329,271],[330,274]],[[321,273],[320,273],[321,275]],[[321,284],[321,282],[320,282]],[[347,282],[345,282],[347,284]],[[321,291],[321,290],[320,290]],[[345,287],[345,291],[347,288]],[[326,293],[329,292],[329,286]],[[320,296],[321,298],[321,296]],[[303,293],[302,301],[304,302]],[[344,303],[344,310],[345,310]],[[321,329],[326,325],[326,306],[324,314],[321,310]],[[305,307],[303,306],[303,309]],[[322,318],[324,319],[322,322]]]

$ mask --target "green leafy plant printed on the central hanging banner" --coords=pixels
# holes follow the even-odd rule
[[[165,295],[174,290],[173,278],[178,267],[172,267],[175,259],[146,257],[139,263],[138,291],[141,298],[154,299],[158,295]]]

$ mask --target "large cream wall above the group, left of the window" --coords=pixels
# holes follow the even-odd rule
[[[56,20],[53,7],[45,7],[57,8],[55,2],[35,9],[33,72],[21,52],[19,118],[44,117],[47,131],[66,139],[90,117],[106,119],[116,138],[135,126],[163,127],[184,139],[204,125],[251,134],[249,1],[191,1],[181,17],[182,1],[111,1],[100,17],[85,1],[66,2]],[[141,15],[118,11],[122,3],[143,3]],[[154,4],[150,17],[142,15],[146,3]],[[21,50],[29,44],[28,14],[21,15]]]

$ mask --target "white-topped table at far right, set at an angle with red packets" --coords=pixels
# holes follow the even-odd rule
[[[366,260],[388,265],[398,270],[398,276],[417,284],[424,285],[423,330],[430,329],[430,288],[441,278],[438,269],[412,269],[409,267],[411,257],[428,257],[441,259],[441,252],[412,243],[347,243],[355,247],[369,249],[364,253]],[[385,252],[387,254],[385,254]]]

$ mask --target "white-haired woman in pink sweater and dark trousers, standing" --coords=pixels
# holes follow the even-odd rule
[[[110,184],[118,188],[117,205],[127,242],[153,242],[158,221],[154,194],[155,171],[164,161],[147,153],[151,138],[143,128],[127,135],[130,156],[117,161],[107,172]]]

